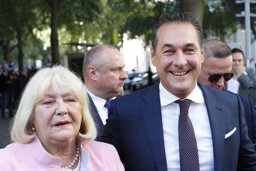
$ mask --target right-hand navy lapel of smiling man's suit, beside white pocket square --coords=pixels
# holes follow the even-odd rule
[[[225,136],[225,115],[220,105],[220,99],[210,90],[211,88],[199,84],[204,94],[205,106],[210,122],[210,130],[212,132],[214,170],[222,170],[223,152],[224,152],[224,136]]]

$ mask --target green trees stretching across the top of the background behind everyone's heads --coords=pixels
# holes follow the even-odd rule
[[[204,12],[200,12],[202,9]],[[59,44],[81,41],[119,46],[123,34],[127,34],[130,39],[141,37],[148,45],[159,16],[177,10],[187,10],[199,20],[203,18],[205,37],[224,40],[237,29],[233,0],[10,0],[0,1],[1,52],[7,60],[18,47],[19,66],[23,53],[33,60],[45,57],[34,30],[40,32],[49,27],[52,62],[59,62]],[[23,52],[23,47],[28,52]]]

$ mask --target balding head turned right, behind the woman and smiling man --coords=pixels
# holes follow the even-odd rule
[[[97,45],[84,57],[83,75],[86,89],[103,99],[123,91],[127,78],[122,54],[111,45]]]

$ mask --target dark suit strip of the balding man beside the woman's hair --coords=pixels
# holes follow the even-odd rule
[[[89,98],[89,102],[90,102],[90,114],[92,115],[92,118],[96,124],[96,128],[97,128],[97,137],[96,137],[96,141],[100,141],[100,136],[102,135],[103,131],[104,131],[104,124],[101,120],[101,116],[98,114],[97,108],[93,103],[92,98],[90,97],[90,95],[88,94],[88,98]]]

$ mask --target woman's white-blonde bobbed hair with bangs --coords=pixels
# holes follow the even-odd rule
[[[11,126],[11,140],[29,143],[36,136],[32,131],[34,106],[46,93],[49,86],[60,93],[72,92],[81,105],[82,122],[77,139],[90,141],[96,138],[97,131],[89,111],[87,91],[81,79],[64,66],[55,65],[43,68],[31,77],[19,102],[18,110]]]

